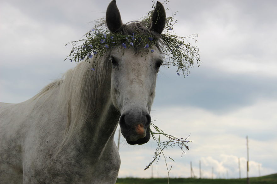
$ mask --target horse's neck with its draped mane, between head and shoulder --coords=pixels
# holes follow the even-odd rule
[[[82,149],[94,148],[90,151],[99,152],[108,141],[113,141],[120,113],[111,102],[109,65],[99,62],[92,71],[91,63],[83,62],[65,76],[61,89],[67,96],[63,101],[68,114],[64,143],[74,140]]]

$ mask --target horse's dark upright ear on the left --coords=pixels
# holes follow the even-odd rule
[[[119,10],[116,6],[116,0],[110,2],[106,11],[106,23],[111,32],[119,31],[122,26],[122,20]]]

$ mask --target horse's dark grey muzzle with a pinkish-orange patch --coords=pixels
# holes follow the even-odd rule
[[[123,113],[119,119],[121,133],[130,145],[142,145],[150,139],[149,113]]]

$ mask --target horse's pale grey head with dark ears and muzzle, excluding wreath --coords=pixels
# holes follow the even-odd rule
[[[148,28],[139,23],[122,24],[115,0],[109,4],[106,12],[108,29],[123,35],[132,34],[132,27],[135,27],[136,31],[146,30],[152,34],[161,34],[165,22],[165,9],[160,2],[157,2],[152,23]],[[163,59],[156,46],[153,50],[146,52],[142,47],[139,53],[135,53],[134,48],[123,49],[120,45],[110,54],[111,99],[121,113],[121,133],[130,145],[144,144],[150,139],[150,110],[155,96],[157,73]]]

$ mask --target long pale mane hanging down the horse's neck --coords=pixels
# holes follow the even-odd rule
[[[44,87],[36,96],[54,92],[59,88],[58,105],[67,114],[65,137],[62,145],[80,130],[88,118],[97,115],[104,90],[110,88],[110,50],[103,57],[95,55],[64,73],[61,79]],[[92,70],[94,66],[95,71]]]

